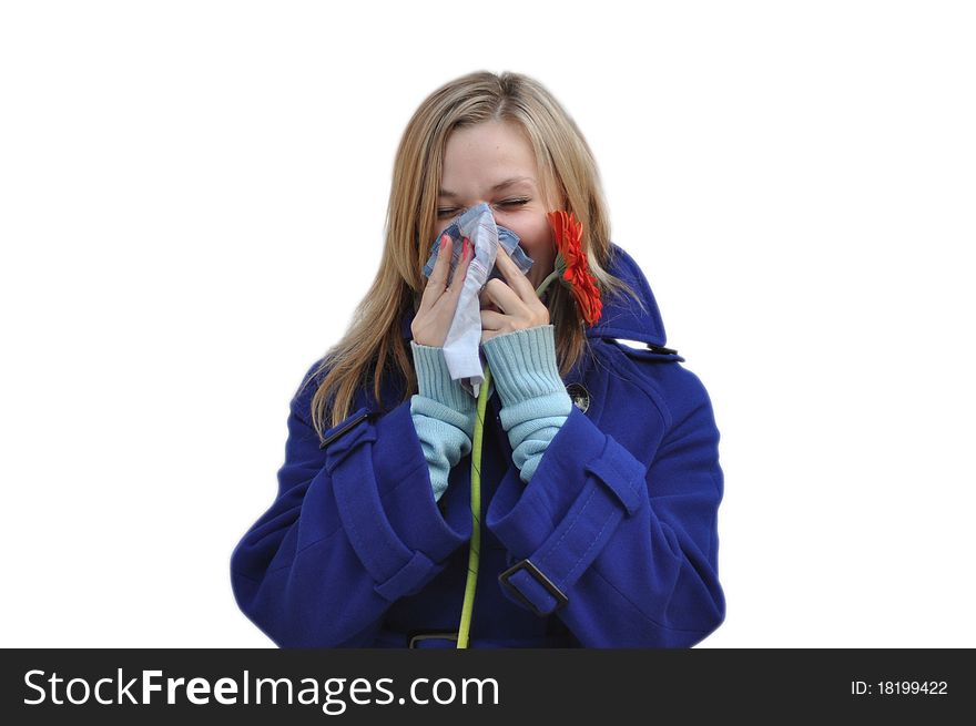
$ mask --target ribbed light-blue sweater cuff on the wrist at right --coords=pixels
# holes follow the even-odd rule
[[[556,362],[556,327],[538,325],[482,344],[502,406],[552,393],[566,396]]]

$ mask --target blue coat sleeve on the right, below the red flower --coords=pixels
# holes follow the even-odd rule
[[[719,431],[698,391],[650,466],[572,407],[528,487],[509,469],[486,519],[509,600],[583,647],[690,647],[722,623]]]

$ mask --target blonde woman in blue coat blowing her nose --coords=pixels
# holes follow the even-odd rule
[[[710,399],[610,242],[582,134],[516,73],[459,78],[410,119],[380,268],[291,401],[277,498],[232,556],[237,603],[279,646],[457,645],[476,400],[441,346],[470,244],[450,279],[449,238],[429,279],[423,267],[481,203],[533,264],[523,275],[499,245],[501,277],[479,298],[491,397],[469,647],[694,645],[725,613]],[[553,269],[555,209],[584,231],[602,297],[592,326],[563,285],[535,293]]]

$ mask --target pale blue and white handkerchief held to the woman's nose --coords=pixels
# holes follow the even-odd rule
[[[475,398],[478,397],[480,386],[485,380],[485,368],[481,351],[481,305],[478,296],[481,289],[492,277],[504,276],[495,266],[498,255],[498,245],[502,245],[522,274],[528,273],[532,266],[532,259],[519,246],[519,236],[507,227],[495,224],[491,207],[486,203],[472,206],[470,209],[453,221],[430,246],[430,256],[424,266],[424,275],[430,277],[434,264],[437,262],[437,253],[440,248],[440,237],[450,235],[451,245],[450,272],[457,267],[461,252],[461,238],[467,237],[475,247],[475,256],[468,266],[468,275],[465,278],[458,299],[454,320],[444,341],[444,359],[450,371],[450,377],[458,380],[461,387]],[[450,279],[448,275],[448,279]],[[485,359],[486,361],[487,359]]]

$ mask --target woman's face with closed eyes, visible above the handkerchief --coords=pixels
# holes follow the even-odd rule
[[[486,121],[456,129],[448,136],[437,198],[437,234],[481,202],[491,207],[496,224],[519,236],[519,244],[533,262],[527,276],[538,287],[556,259],[546,213],[557,207],[551,200],[541,198],[532,146],[512,122]]]

